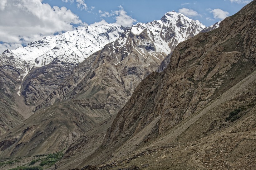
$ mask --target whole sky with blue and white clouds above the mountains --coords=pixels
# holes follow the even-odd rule
[[[169,11],[210,26],[252,0],[0,0],[0,53],[75,27],[131,26],[160,20]]]

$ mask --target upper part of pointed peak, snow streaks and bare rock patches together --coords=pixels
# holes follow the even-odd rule
[[[167,12],[160,20],[137,23],[125,31],[109,49],[109,55],[123,51],[126,55],[116,58],[115,65],[121,63],[124,56],[137,53],[144,57],[165,58],[182,41],[187,40],[203,30],[205,26],[198,20],[192,20],[175,11]],[[131,38],[135,35],[135,38]],[[161,60],[162,61],[162,60]]]

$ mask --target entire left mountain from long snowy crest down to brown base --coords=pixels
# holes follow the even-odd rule
[[[125,29],[86,26],[5,50],[0,55],[0,135],[27,119],[78,63],[116,40]]]

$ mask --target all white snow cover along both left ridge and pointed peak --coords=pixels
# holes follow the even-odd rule
[[[198,20],[194,21],[172,11],[167,12],[160,20],[137,23],[131,26],[128,32],[139,35],[146,30],[156,48],[154,53],[166,56],[178,43],[193,37],[204,28],[205,26]],[[104,45],[123,39],[124,37],[120,35],[125,32],[125,29],[107,24],[85,26],[59,35],[47,36],[42,40],[28,43],[25,47],[5,50],[0,55],[2,60],[0,64],[4,65],[5,60],[9,60],[12,56],[14,66],[20,68],[22,73],[26,72],[22,74],[23,78],[33,67],[47,65],[56,57],[66,63],[79,64],[92,53],[101,50]],[[126,42],[123,39],[120,43]],[[140,49],[136,50],[140,51]]]

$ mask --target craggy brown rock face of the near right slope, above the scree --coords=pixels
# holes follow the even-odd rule
[[[145,78],[119,111],[101,147],[105,149],[96,152],[104,158],[88,161],[106,160],[110,148],[119,148],[157,119],[158,134],[164,134],[254,72],[255,9],[253,1],[218,29],[180,43],[168,67]]]

